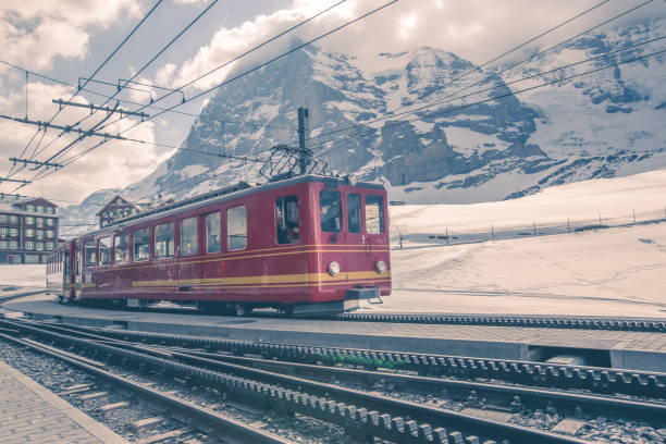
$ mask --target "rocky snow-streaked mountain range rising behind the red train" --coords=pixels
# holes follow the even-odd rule
[[[663,168],[664,53],[566,79],[661,50],[663,40],[517,82],[654,39],[663,24],[579,38],[516,67],[507,62],[490,71],[421,47],[381,53],[377,71],[365,72],[354,58],[308,47],[219,90],[183,149],[122,195],[178,199],[255,182],[260,165],[217,156],[296,145],[298,107],[309,109],[308,146],[330,170],[382,181],[392,200],[410,203],[502,200]],[[518,94],[544,82],[556,83]]]

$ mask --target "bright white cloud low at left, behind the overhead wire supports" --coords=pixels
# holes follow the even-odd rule
[[[30,120],[46,121],[53,115],[57,106],[51,103],[52,98],[69,97],[72,90],[63,86],[51,86],[41,83],[30,83],[28,86],[28,113]],[[85,102],[84,99],[77,100]],[[0,109],[4,114],[23,116],[25,114],[25,90],[16,90],[8,96],[0,97]],[[53,123],[62,124],[62,122],[71,123],[81,120],[89,114],[85,109],[69,107],[63,110],[58,120]],[[97,122],[102,115],[95,114],[90,121],[82,124],[82,127],[88,127],[90,122]],[[116,116],[110,119],[110,125],[104,127],[103,132],[109,134],[118,134],[130,126],[137,123],[134,119],[124,119],[116,123],[112,123]],[[18,123],[14,121],[0,120],[0,134],[3,134],[0,139],[0,151],[4,153],[0,157],[0,171],[7,172],[10,169],[9,157],[18,157],[21,151],[26,146],[26,143],[35,134],[37,127]],[[39,133],[35,140],[39,140],[44,133]],[[45,149],[50,140],[52,140],[59,131],[49,131],[45,135],[40,148]],[[45,197],[62,197],[66,199],[83,199],[90,193],[100,188],[115,188],[128,185],[133,182],[144,178],[148,175],[164,158],[156,146],[150,145],[155,141],[155,125],[152,122],[145,122],[136,128],[123,134],[124,136],[145,140],[149,144],[137,144],[123,140],[111,140],[90,153],[82,157],[76,162],[65,169],[51,174],[44,180],[35,182],[21,189],[22,194],[39,195],[41,186],[44,187]],[[44,152],[37,155],[38,160],[46,160],[49,156],[57,152],[59,149],[74,140],[76,136],[66,135],[51,144]],[[76,144],[69,150],[63,158],[70,158],[79,153],[87,148],[100,141],[99,137],[89,137],[84,141]],[[30,156],[35,143],[33,143],[25,157]],[[34,172],[24,171],[12,178],[29,180]],[[15,184],[3,183],[0,185],[3,193],[10,193],[14,189]]]

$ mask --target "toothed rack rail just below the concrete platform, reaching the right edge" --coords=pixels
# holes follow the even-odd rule
[[[367,370],[380,368],[405,370],[422,377],[492,379],[521,385],[589,390],[600,394],[621,393],[666,399],[666,373],[659,372],[360,348],[254,343],[169,333],[100,330],[83,325],[67,325],[66,330],[125,341],[171,343],[188,348],[255,355],[283,361],[322,362],[328,366],[344,363],[362,366]]]

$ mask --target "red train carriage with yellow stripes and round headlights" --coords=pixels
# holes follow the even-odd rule
[[[135,214],[50,255],[63,300],[335,312],[391,293],[383,186],[305,175]]]

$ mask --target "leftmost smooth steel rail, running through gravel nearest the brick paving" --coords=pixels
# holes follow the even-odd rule
[[[40,347],[34,343],[29,343],[21,338],[16,338],[16,337],[7,335],[4,333],[0,333],[0,338],[10,341],[14,344],[30,348],[35,351],[51,356],[53,358],[60,359],[72,367],[76,367],[97,378],[104,379],[118,386],[122,386],[123,388],[130,390],[133,393],[141,397],[146,397],[161,405],[165,405],[165,406],[175,408],[177,409],[177,411],[184,412],[185,415],[194,418],[195,420],[202,422],[203,424],[211,427],[214,430],[218,430],[222,436],[240,440],[242,442],[252,442],[252,443],[266,443],[266,444],[288,444],[291,443],[291,441],[288,440],[284,440],[280,436],[273,435],[271,433],[267,433],[262,430],[251,428],[249,425],[244,424],[240,421],[223,416],[214,410],[198,406],[185,399],[180,399],[174,396],[166,395],[157,390],[150,388],[146,385],[141,385],[141,384],[132,382],[127,380],[126,378],[120,377],[108,370],[103,370],[99,367],[87,363],[83,359],[79,360],[79,359],[73,358],[71,354],[69,354],[70,356],[67,356],[61,353],[57,353],[50,348]]]

